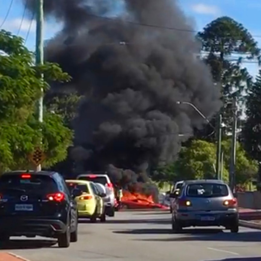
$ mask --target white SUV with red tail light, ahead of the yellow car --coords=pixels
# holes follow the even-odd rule
[[[87,173],[80,174],[77,176],[77,180],[88,180],[94,183],[100,183],[106,187],[107,197],[104,198],[105,206],[106,206],[106,214],[108,216],[114,216],[115,214],[115,195],[114,195],[114,187],[111,183],[109,176],[106,173]]]

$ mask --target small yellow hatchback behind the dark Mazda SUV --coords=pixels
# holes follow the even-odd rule
[[[86,180],[66,180],[69,190],[79,189],[81,196],[76,197],[79,218],[90,218],[91,222],[96,222],[99,218],[101,222],[106,221],[105,204],[95,184]]]

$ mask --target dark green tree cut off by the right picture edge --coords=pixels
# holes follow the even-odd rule
[[[246,122],[243,127],[243,144],[246,151],[261,161],[261,71],[249,90],[246,101]],[[260,175],[260,171],[259,171]]]

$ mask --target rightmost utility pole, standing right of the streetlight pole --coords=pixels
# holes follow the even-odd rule
[[[237,105],[236,105],[235,97],[233,98],[232,111],[233,111],[233,128],[232,128],[229,183],[230,183],[231,190],[234,191],[236,186],[235,165],[236,165],[236,129],[237,129]]]

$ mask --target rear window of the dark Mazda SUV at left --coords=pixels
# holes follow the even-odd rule
[[[0,191],[22,189],[26,192],[37,191],[39,194],[58,191],[55,181],[48,175],[32,174],[31,178],[22,178],[21,174],[3,175],[0,177]]]

